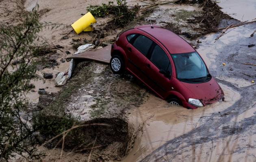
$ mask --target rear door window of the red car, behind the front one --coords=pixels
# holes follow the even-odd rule
[[[143,55],[147,55],[150,46],[152,45],[152,40],[146,36],[139,35],[133,42],[133,46],[138,49]]]

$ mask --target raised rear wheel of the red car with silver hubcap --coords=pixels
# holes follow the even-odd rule
[[[124,72],[124,60],[119,55],[113,55],[110,60],[110,68],[115,74]]]

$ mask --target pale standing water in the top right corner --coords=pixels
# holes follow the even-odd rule
[[[256,18],[255,0],[218,0],[221,11],[240,21],[252,21]]]

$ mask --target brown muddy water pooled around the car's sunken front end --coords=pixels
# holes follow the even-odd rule
[[[166,141],[174,139],[199,127],[209,118],[230,107],[241,96],[230,87],[220,84],[225,94],[225,102],[216,102],[203,108],[188,110],[183,107],[170,107],[169,104],[151,95],[150,98],[131,114],[133,122],[146,121],[142,134],[137,136],[133,149],[122,162],[142,160]],[[215,119],[212,119],[215,120]]]

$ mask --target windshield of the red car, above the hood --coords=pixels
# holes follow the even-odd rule
[[[176,68],[176,77],[183,81],[207,81],[211,78],[199,54],[195,52],[171,54]]]

